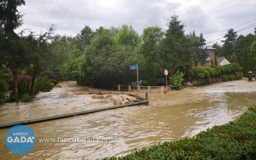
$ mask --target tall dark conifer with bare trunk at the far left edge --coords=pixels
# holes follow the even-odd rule
[[[17,7],[25,5],[23,0],[3,0],[0,2],[0,31],[3,44],[1,44],[1,53],[4,56],[0,59],[1,64],[9,67],[13,72],[14,77],[14,95],[15,102],[19,102],[18,89],[17,89],[17,71],[22,69],[26,61],[23,59],[23,52],[25,46],[19,35],[14,30],[19,28],[22,23],[22,16],[20,15]]]

